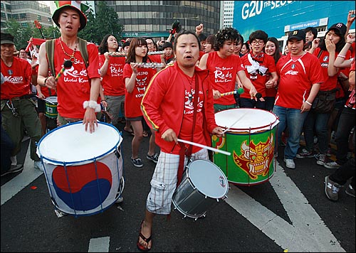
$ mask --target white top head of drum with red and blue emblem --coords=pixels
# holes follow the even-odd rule
[[[85,161],[108,154],[120,145],[119,131],[110,124],[98,122],[95,131],[85,131],[83,122],[66,124],[48,132],[37,147],[38,156],[66,163]],[[51,162],[50,162],[51,163]]]

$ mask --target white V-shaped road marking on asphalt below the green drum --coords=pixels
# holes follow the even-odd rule
[[[235,185],[225,201],[288,252],[345,252],[318,213],[277,163],[269,181],[293,225],[258,203]],[[252,186],[253,187],[253,186]]]

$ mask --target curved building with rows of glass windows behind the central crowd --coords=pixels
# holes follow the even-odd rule
[[[96,1],[95,1],[96,2]],[[106,1],[124,25],[122,37],[169,36],[172,23],[179,20],[182,29],[195,31],[204,24],[203,33],[214,34],[221,27],[223,1]]]

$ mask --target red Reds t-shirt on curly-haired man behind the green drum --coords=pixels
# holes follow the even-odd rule
[[[209,70],[213,90],[219,90],[220,93],[235,90],[236,74],[240,70],[245,70],[239,55],[230,55],[223,59],[217,51],[208,54],[206,69]],[[224,96],[214,99],[214,104],[230,105],[236,104],[236,101],[234,96]]]

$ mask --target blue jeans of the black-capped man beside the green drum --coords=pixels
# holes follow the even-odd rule
[[[299,149],[300,134],[302,133],[303,124],[305,118],[308,116],[308,112],[300,113],[300,109],[292,109],[275,105],[273,107],[273,113],[276,114],[279,119],[277,134],[278,139],[276,139],[275,149],[278,149],[282,131],[286,129],[286,126],[288,125],[289,136],[286,149],[284,149],[284,158],[293,159],[297,155]]]

